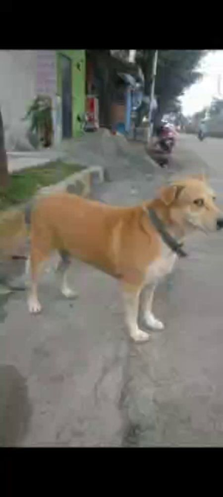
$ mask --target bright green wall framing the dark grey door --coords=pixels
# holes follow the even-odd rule
[[[61,96],[62,73],[60,55],[72,61],[72,131],[73,137],[81,134],[78,114],[85,112],[85,50],[57,50],[57,92]],[[80,63],[80,71],[77,64]]]

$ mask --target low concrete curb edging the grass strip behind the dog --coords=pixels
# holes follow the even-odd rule
[[[91,193],[94,177],[97,177],[98,183],[104,182],[105,173],[102,166],[91,166],[83,169],[83,171],[75,172],[59,183],[41,188],[33,198],[37,199],[44,195],[63,191],[86,197]],[[29,204],[30,201],[27,203]],[[1,259],[24,253],[27,238],[27,226],[25,223],[25,206],[27,203],[18,207],[11,207],[0,213]]]

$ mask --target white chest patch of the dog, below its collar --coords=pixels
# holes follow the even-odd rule
[[[161,256],[148,266],[146,273],[147,283],[155,283],[170,273],[177,255],[162,242]]]

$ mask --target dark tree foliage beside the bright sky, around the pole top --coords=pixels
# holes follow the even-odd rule
[[[155,85],[158,101],[156,124],[184,89],[201,77],[195,69],[203,55],[204,50],[159,50]],[[153,56],[154,50],[137,51],[136,61],[144,74],[146,94],[150,93]]]

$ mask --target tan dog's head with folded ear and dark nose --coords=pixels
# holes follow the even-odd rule
[[[185,233],[195,229],[207,233],[223,228],[223,213],[204,176],[176,180],[162,188],[159,198],[167,208],[170,221]]]

